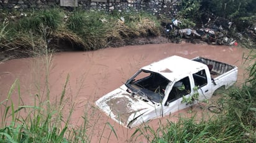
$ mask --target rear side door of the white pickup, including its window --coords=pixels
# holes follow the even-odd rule
[[[198,87],[199,100],[211,98],[211,81],[208,79],[210,78],[207,78],[205,69],[193,74],[194,87]]]

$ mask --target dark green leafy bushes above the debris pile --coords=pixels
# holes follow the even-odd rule
[[[255,24],[255,6],[255,0],[183,0],[178,15],[200,26],[206,24],[209,18],[223,17],[234,22],[236,27],[239,27],[238,31],[242,32],[245,28]]]

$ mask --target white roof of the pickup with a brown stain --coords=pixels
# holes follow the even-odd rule
[[[181,79],[188,76],[190,73],[195,73],[206,68],[207,66],[203,63],[182,58],[180,56],[170,56],[155,63],[149,64],[148,66],[142,67],[144,70],[162,74],[162,76],[171,81]]]

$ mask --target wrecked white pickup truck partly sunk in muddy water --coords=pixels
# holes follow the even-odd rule
[[[171,56],[142,67],[96,105],[117,123],[132,128],[188,108],[191,104],[183,102],[184,98],[197,94],[192,104],[209,99],[216,89],[227,89],[236,80],[236,66],[201,57]]]

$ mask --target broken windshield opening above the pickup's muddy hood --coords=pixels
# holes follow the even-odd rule
[[[127,80],[126,86],[135,94],[146,96],[153,102],[160,103],[165,97],[165,89],[169,82],[170,80],[161,74],[140,70]]]

